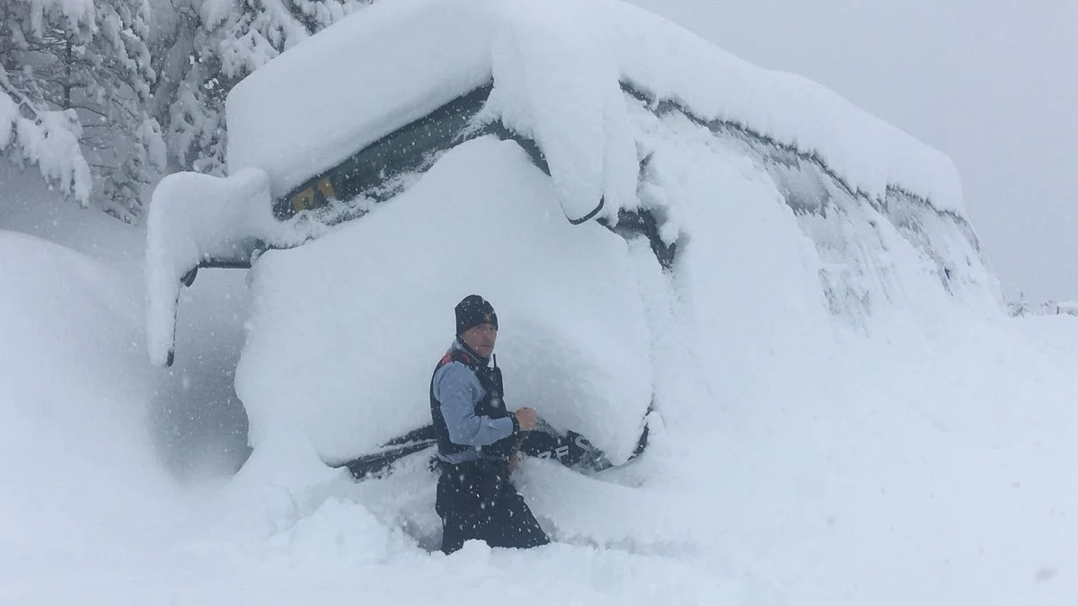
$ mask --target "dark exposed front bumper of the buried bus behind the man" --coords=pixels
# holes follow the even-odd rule
[[[385,471],[404,456],[431,449],[436,443],[434,426],[427,425],[389,440],[377,452],[330,465],[332,467],[347,467],[357,480],[362,480],[368,476],[376,476]],[[636,449],[628,459],[633,460],[647,447],[648,426],[645,425],[644,431],[640,432],[636,442]],[[562,435],[541,421],[535,430],[524,433],[520,450],[523,454],[536,458],[552,458],[578,471],[602,471],[613,467],[603,451],[593,446],[582,435],[576,431],[567,431]]]

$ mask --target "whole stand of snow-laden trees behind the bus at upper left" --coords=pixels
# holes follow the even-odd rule
[[[158,2],[152,54],[148,0],[0,2],[0,152],[135,221],[161,173],[223,174],[235,83],[372,1]]]

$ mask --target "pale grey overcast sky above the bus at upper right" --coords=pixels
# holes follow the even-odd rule
[[[1078,300],[1078,0],[633,0],[945,152],[1005,294]]]

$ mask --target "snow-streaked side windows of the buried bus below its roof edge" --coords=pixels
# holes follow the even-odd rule
[[[638,144],[649,159],[639,204],[664,219],[660,235],[665,242],[688,244],[685,250],[691,251],[693,239],[706,246],[724,230],[720,225],[730,224],[700,212],[714,216],[744,199],[777,202],[786,211],[770,220],[796,217],[801,231],[779,239],[796,236],[814,245],[815,253],[804,262],[816,267],[810,273],[815,289],[823,291],[830,313],[851,326],[867,329],[870,316],[895,306],[936,322],[944,300],[998,314],[996,280],[964,219],[898,191],[887,192],[881,211],[816,162],[773,143],[701,125],[678,110],[652,112],[638,101],[631,109]],[[715,181],[720,176],[724,182]],[[742,181],[754,182],[762,193],[731,185]],[[774,240],[761,242],[769,243],[761,253],[775,254]],[[730,254],[744,246],[737,239],[723,243],[732,247]]]

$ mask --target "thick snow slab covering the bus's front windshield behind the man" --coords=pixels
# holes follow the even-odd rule
[[[637,285],[625,242],[552,216],[554,199],[519,147],[483,138],[361,221],[263,254],[236,377],[255,452],[298,430],[345,458],[430,423],[453,307],[478,292],[498,312],[509,408],[624,460],[652,391]]]

